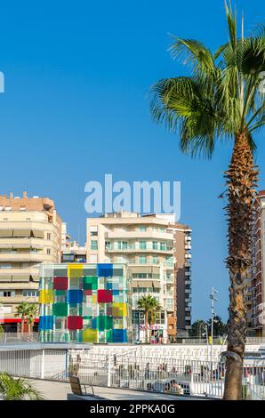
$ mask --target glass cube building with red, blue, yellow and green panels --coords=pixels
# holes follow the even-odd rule
[[[131,285],[123,264],[43,265],[41,342],[132,342]]]

